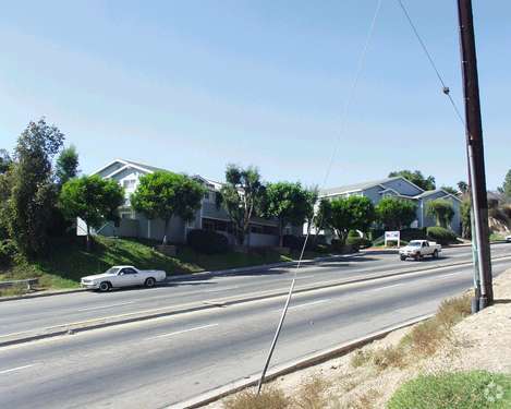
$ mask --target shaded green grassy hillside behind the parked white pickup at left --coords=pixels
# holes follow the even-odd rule
[[[0,281],[39,277],[44,288],[73,288],[85,275],[102,273],[117,264],[138,268],[165,269],[167,275],[190,274],[290,261],[276,252],[261,254],[206,255],[183,246],[178,256],[169,257],[153,250],[154,242],[97,237],[90,253],[82,243],[54,240],[46,256],[39,261],[19,261],[8,269],[0,270]]]

